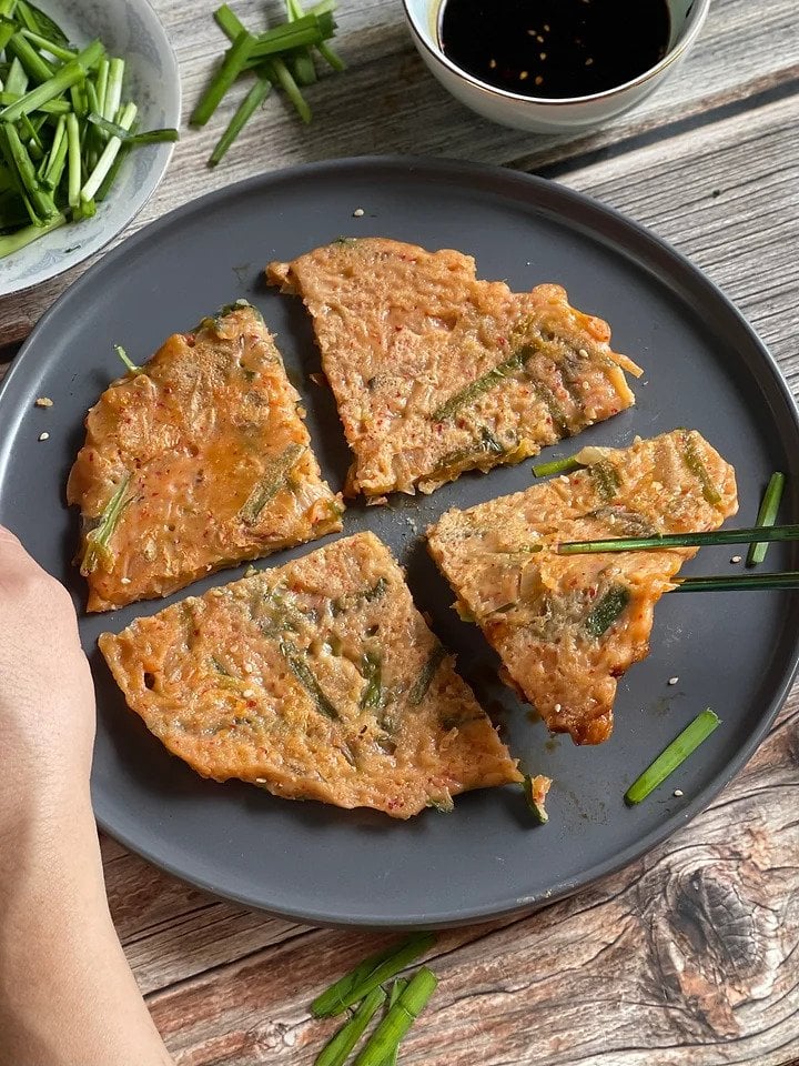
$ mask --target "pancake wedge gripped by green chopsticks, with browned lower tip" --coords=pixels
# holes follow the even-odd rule
[[[610,735],[617,678],[649,651],[653,611],[697,549],[558,555],[563,541],[715,530],[738,510],[735,471],[696,431],[627,449],[429,531],[429,551],[499,653],[505,680],[578,744]]]

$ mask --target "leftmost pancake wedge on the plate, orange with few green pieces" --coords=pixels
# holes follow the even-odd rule
[[[176,333],[87,416],[69,479],[89,611],[341,529],[300,396],[261,315],[234,304]]]

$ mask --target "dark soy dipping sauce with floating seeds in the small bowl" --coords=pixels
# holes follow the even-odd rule
[[[456,67],[525,97],[615,89],[658,63],[666,0],[444,0],[439,41]]]

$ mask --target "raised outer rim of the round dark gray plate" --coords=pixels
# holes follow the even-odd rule
[[[155,219],[142,227],[135,233],[121,241],[111,251],[103,254],[80,278],[64,289],[52,306],[49,308],[48,311],[41,316],[30,335],[21,345],[20,351],[13,360],[11,369],[6,374],[3,381],[0,382],[0,410],[2,409],[2,404],[3,401],[6,401],[7,395],[16,386],[17,381],[23,379],[27,371],[26,360],[30,358],[28,353],[33,350],[36,354],[34,345],[38,343],[39,333],[43,332],[52,316],[60,313],[62,303],[67,303],[69,300],[74,299],[80,300],[82,288],[84,285],[91,286],[95,274],[105,269],[109,262],[130,254],[131,251],[135,251],[150,240],[156,240],[161,231],[175,223],[179,223],[185,217],[193,215],[199,211],[206,211],[209,207],[212,207],[215,203],[224,202],[227,199],[235,199],[240,195],[246,195],[260,188],[267,189],[273,183],[314,177],[320,172],[325,171],[346,172],[358,169],[362,169],[366,172],[380,169],[390,169],[396,173],[414,172],[416,177],[418,177],[419,173],[427,172],[431,177],[451,180],[454,179],[458,182],[463,182],[465,177],[483,178],[486,181],[493,181],[495,184],[498,182],[499,188],[497,191],[500,194],[507,193],[510,195],[510,192],[516,193],[515,195],[510,197],[516,202],[524,202],[527,199],[524,194],[525,191],[533,191],[535,193],[537,190],[538,193],[544,195],[544,200],[547,202],[544,204],[536,204],[536,197],[534,194],[529,201],[529,207],[532,209],[538,207],[539,210],[545,212],[550,210],[550,198],[554,197],[556,200],[560,198],[559,205],[563,205],[564,203],[570,203],[573,207],[581,209],[583,212],[587,211],[594,219],[596,219],[597,215],[604,217],[604,219],[610,223],[609,230],[597,232],[588,227],[588,232],[590,232],[596,239],[605,241],[611,239],[613,245],[619,254],[629,254],[634,250],[630,245],[630,239],[635,239],[635,252],[637,254],[641,254],[648,263],[648,265],[639,264],[641,269],[651,270],[663,284],[672,284],[675,281],[684,282],[686,275],[688,275],[694,284],[692,291],[696,293],[698,286],[698,291],[701,294],[701,290],[704,289],[708,298],[715,303],[714,310],[720,310],[726,314],[728,321],[731,320],[735,322],[737,328],[742,331],[749,343],[757,351],[759,356],[758,366],[766,368],[769,371],[769,383],[772,389],[776,388],[778,394],[783,401],[785,411],[779,416],[780,423],[785,425],[787,419],[792,432],[799,440],[799,409],[797,408],[797,401],[790,391],[788,382],[777,360],[768,350],[763,341],[758,336],[757,332],[749,324],[744,314],[735,305],[735,303],[732,303],[732,301],[714,281],[711,281],[710,278],[707,276],[707,274],[699,266],[695,265],[686,255],[677,251],[668,241],[650,231],[643,223],[637,222],[615,208],[611,208],[608,204],[595,199],[594,197],[536,174],[528,174],[523,171],[514,171],[504,167],[497,167],[487,163],[447,159],[445,157],[417,157],[403,154],[342,157],[302,163],[294,167],[282,168],[280,170],[256,174],[254,177],[236,181],[222,189],[205,193],[204,195],[191,200],[188,203],[181,204],[166,214],[163,214],[159,219]],[[573,218],[569,215],[568,221],[573,227],[576,225],[583,230],[586,229],[585,223],[580,221],[579,218]],[[623,234],[620,240],[619,234]],[[624,237],[626,237],[627,240],[624,240]],[[665,259],[666,262],[670,263],[672,268],[670,273],[665,275],[655,269],[655,263],[653,261],[656,261],[658,257],[661,261]],[[631,864],[643,855],[650,852],[658,844],[661,844],[665,839],[672,836],[679,828],[687,825],[709,806],[709,804],[719,795],[722,788],[730,783],[730,781],[740,772],[742,766],[752,757],[755,752],[763,742],[777,715],[782,708],[797,677],[797,673],[799,672],[799,631],[793,634],[792,642],[788,643],[786,652],[788,656],[788,668],[783,673],[781,681],[777,686],[775,696],[758,714],[757,723],[750,730],[746,742],[741,744],[735,754],[725,763],[724,770],[711,777],[688,804],[681,807],[679,812],[665,817],[664,822],[657,828],[639,837],[635,843],[628,845],[621,852],[614,854],[613,857],[608,858],[607,861],[595,863],[580,876],[562,881],[559,884],[548,889],[547,893],[532,895],[528,898],[514,895],[513,898],[497,898],[497,901],[489,906],[471,906],[466,909],[454,907],[447,913],[442,913],[435,917],[429,917],[424,914],[405,914],[397,919],[386,919],[368,913],[351,914],[346,917],[340,916],[336,918],[324,911],[310,909],[307,907],[299,909],[292,909],[292,907],[284,906],[275,907],[269,903],[264,903],[262,899],[254,898],[247,893],[237,893],[225,889],[224,887],[221,887],[219,883],[211,881],[208,877],[188,874],[185,869],[182,869],[169,858],[165,858],[163,855],[158,854],[149,846],[142,845],[141,843],[131,838],[131,836],[124,831],[121,832],[120,829],[114,828],[113,825],[110,824],[103,816],[101,801],[98,801],[94,796],[92,775],[92,806],[94,808],[94,816],[100,828],[109,836],[117,839],[132,853],[152,863],[152,865],[154,865],[156,868],[164,871],[179,881],[192,885],[216,898],[226,899],[284,921],[333,928],[360,927],[367,929],[443,929],[462,925],[471,925],[475,924],[476,922],[502,918],[516,914],[532,913],[533,911],[543,906],[548,906],[552,903],[556,903],[559,899],[566,898],[577,891],[586,889],[599,879],[617,873],[623,867]],[[98,807],[100,807],[100,809],[98,809]]]

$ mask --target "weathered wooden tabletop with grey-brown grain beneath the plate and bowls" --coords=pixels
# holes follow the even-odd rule
[[[220,122],[186,132],[133,228],[306,160],[408,152],[503,163],[598,197],[676,244],[799,388],[796,0],[715,0],[671,81],[613,124],[570,138],[515,133],[456,104],[416,57],[400,0],[341,6],[351,69],[309,92],[314,124],[301,128],[273,100],[216,171],[204,160]],[[180,54],[188,111],[221,46],[213,4],[155,7]],[[259,24],[261,0],[236,8]],[[78,273],[0,301],[8,355]],[[798,770],[799,688],[749,765],[665,845],[532,917],[442,935],[432,964],[439,992],[402,1062],[799,1062]],[[312,1063],[328,1027],[309,1019],[311,995],[386,938],[267,918],[214,902],[110,839],[103,852],[122,943],[175,1060]]]

